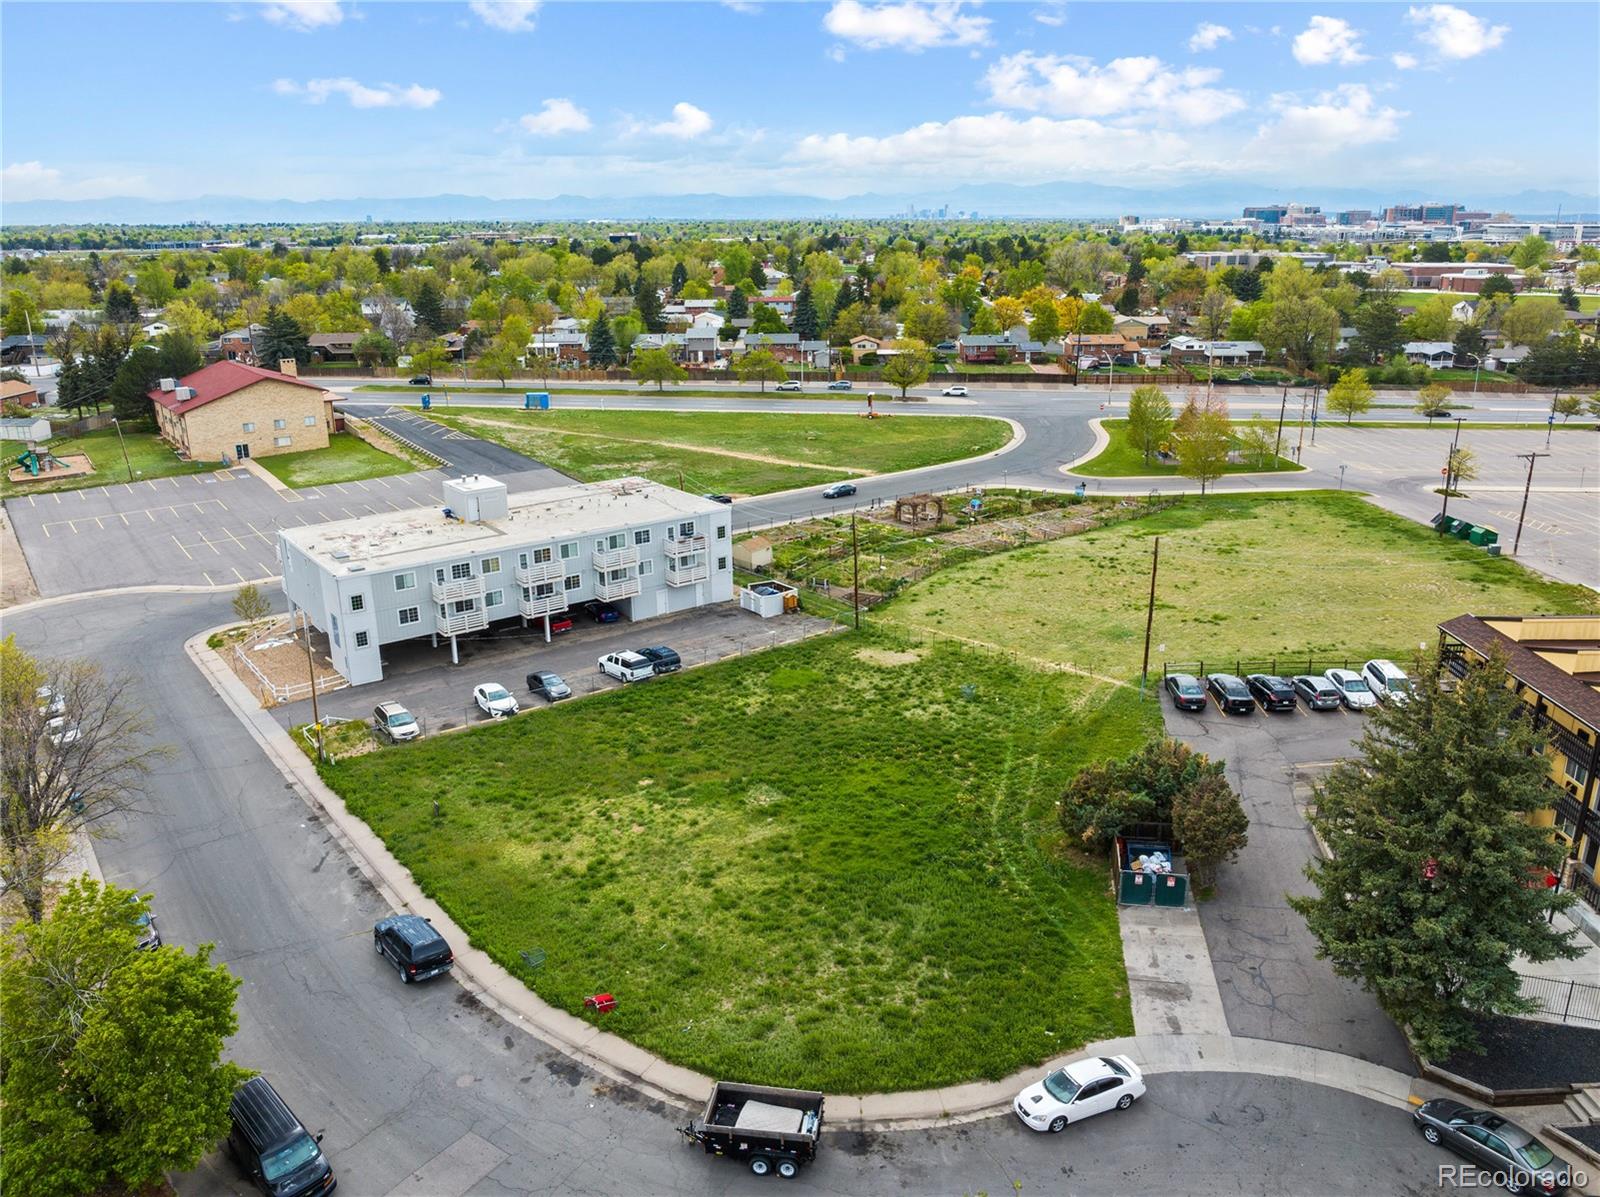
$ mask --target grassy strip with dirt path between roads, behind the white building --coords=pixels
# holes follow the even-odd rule
[[[698,411],[429,413],[584,482],[640,474],[699,493],[766,494],[933,466],[1000,448],[1010,424],[982,416],[813,416]]]

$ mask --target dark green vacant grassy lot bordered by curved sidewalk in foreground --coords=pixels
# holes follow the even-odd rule
[[[1053,803],[1154,704],[899,647],[813,640],[325,776],[477,946],[563,1010],[616,994],[605,1027],[688,1067],[861,1093],[1130,1034],[1104,867]]]

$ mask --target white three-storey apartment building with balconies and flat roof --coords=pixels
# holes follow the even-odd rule
[[[507,494],[446,478],[443,510],[363,515],[278,533],[291,611],[326,632],[352,683],[384,675],[382,647],[544,621],[590,598],[650,619],[733,598],[726,506],[645,478]]]

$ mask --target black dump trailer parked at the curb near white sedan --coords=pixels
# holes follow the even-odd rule
[[[718,1080],[704,1114],[680,1130],[709,1155],[744,1160],[757,1176],[790,1179],[802,1163],[816,1159],[822,1095]]]

